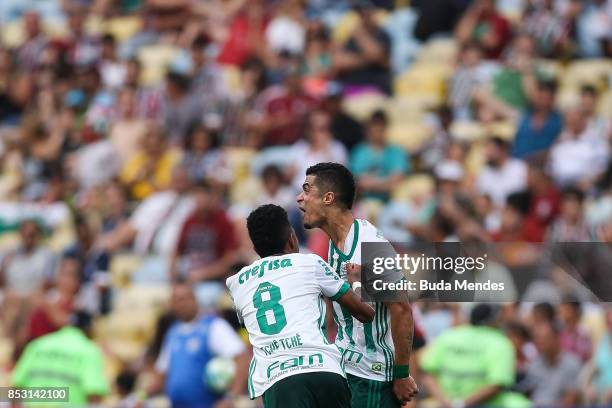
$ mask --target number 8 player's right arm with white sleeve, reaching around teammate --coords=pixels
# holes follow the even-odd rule
[[[318,256],[315,275],[323,294],[340,303],[355,319],[362,323],[369,323],[374,320],[372,306],[362,302],[349,284],[334,274],[331,266]]]

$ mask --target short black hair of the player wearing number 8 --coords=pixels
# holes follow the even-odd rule
[[[257,207],[247,217],[249,237],[262,257],[282,254],[291,235],[287,211],[274,204]]]

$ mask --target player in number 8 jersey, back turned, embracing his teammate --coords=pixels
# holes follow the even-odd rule
[[[374,310],[317,255],[298,253],[287,213],[264,205],[247,218],[260,260],[227,279],[253,345],[248,391],[265,408],[349,408],[350,391],[338,347],[325,334],[325,301],[360,322]]]

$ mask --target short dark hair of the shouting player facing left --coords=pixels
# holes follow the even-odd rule
[[[342,207],[353,208],[355,178],[349,169],[339,163],[318,163],[309,167],[306,175],[317,178],[316,184],[322,192],[332,191]]]

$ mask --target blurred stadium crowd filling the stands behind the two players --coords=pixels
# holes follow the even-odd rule
[[[162,352],[194,307],[221,317],[206,358],[240,371],[223,280],[255,257],[245,216],[282,205],[325,257],[295,203],[318,162],[351,169],[391,241],[612,243],[611,56],[610,0],[2,0],[0,385],[56,347],[91,361],[38,364],[82,375],[83,401],[199,396],[199,343]],[[423,404],[486,384],[444,345],[493,321],[516,359],[483,353],[493,378],[612,404],[610,306],[545,300],[415,304]]]

